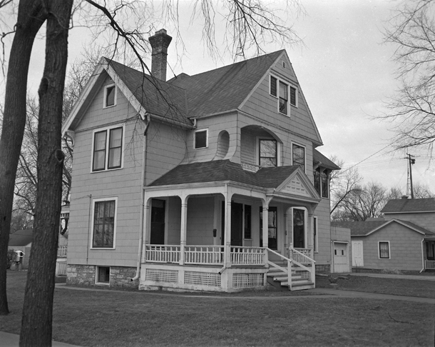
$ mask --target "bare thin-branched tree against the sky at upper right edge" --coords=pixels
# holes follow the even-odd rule
[[[435,141],[435,1],[403,1],[393,12],[385,41],[396,46],[399,91],[381,116],[391,121],[396,149],[419,146],[430,154]]]

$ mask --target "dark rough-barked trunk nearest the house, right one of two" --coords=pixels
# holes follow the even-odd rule
[[[34,237],[20,346],[51,346],[64,157],[61,151],[63,88],[73,0],[51,0],[48,4],[46,63],[38,91],[38,186]]]

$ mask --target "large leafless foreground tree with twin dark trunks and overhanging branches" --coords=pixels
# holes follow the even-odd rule
[[[6,4],[3,1],[2,4]],[[293,1],[295,2],[295,1]],[[178,1],[169,1],[178,6]],[[214,2],[196,1],[209,21],[206,25],[213,32]],[[220,4],[220,3],[219,3]],[[46,24],[46,58],[44,75],[39,86],[39,125],[36,207],[34,239],[29,261],[29,272],[24,298],[20,346],[51,346],[51,323],[54,290],[54,268],[58,242],[58,224],[61,208],[61,183],[64,154],[61,150],[61,121],[66,62],[68,59],[68,29],[71,13],[86,7],[86,18],[93,28],[113,31],[111,45],[118,51],[122,44],[133,51],[143,71],[148,71],[142,57],[148,53],[147,40],[140,30],[148,16],[140,16],[138,8],[145,9],[145,1],[78,1],[72,0],[19,0],[14,39],[9,54],[6,78],[4,120],[0,138],[0,314],[9,313],[6,298],[6,254],[14,197],[14,178],[19,162],[21,144],[26,125],[26,91],[29,61],[35,36]],[[232,28],[230,39],[236,41],[237,54],[260,44],[258,38],[277,38],[293,42],[294,34],[288,26],[280,25],[274,11],[260,0],[227,1],[224,17]],[[110,6],[110,7],[109,7]],[[83,12],[81,12],[83,14]],[[128,29],[122,16],[131,23],[133,16],[139,22]],[[175,12],[176,13],[176,12]],[[210,15],[211,14],[211,15]],[[142,22],[140,22],[142,21]],[[149,26],[152,28],[152,25]],[[210,32],[210,31],[208,31]],[[213,36],[208,36],[213,37]],[[208,41],[213,45],[213,41]],[[122,43],[122,44],[121,44]],[[155,86],[158,87],[158,83]]]

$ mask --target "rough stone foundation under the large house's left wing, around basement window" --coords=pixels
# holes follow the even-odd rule
[[[131,281],[136,274],[136,268],[125,266],[110,266],[111,277],[108,284],[96,283],[95,265],[68,264],[66,268],[66,283],[72,286],[111,286],[117,288],[137,289],[139,281]]]

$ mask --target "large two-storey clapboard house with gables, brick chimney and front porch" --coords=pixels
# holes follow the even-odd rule
[[[287,53],[165,81],[169,43],[165,30],[150,38],[153,77],[101,59],[63,125],[68,283],[238,291],[269,276],[312,288],[331,269],[339,167],[315,149]]]

